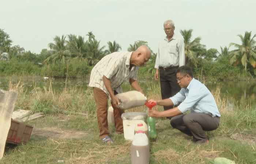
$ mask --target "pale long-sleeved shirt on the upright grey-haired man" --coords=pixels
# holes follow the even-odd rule
[[[159,43],[158,54],[155,60],[155,68],[169,66],[184,66],[185,50],[184,40],[177,38],[175,34],[170,41],[165,38]]]

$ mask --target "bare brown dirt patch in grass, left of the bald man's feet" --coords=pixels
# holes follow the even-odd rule
[[[62,130],[59,128],[33,128],[32,135],[40,137],[52,137],[52,138],[82,138],[87,135],[87,133],[72,131],[72,130]]]

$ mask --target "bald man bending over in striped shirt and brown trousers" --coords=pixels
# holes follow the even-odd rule
[[[114,124],[116,133],[123,133],[121,110],[117,108],[120,101],[115,96],[122,93],[121,84],[129,80],[133,89],[141,92],[137,82],[139,66],[143,66],[150,59],[150,49],[143,45],[133,52],[113,52],[103,57],[91,70],[89,86],[93,87],[93,94],[97,108],[99,137],[103,142],[113,142],[108,130],[108,97],[114,109]]]

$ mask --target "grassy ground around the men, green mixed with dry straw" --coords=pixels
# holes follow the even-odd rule
[[[159,86],[149,83],[148,98],[159,98]],[[28,121],[34,128],[54,128],[57,132],[83,132],[72,136],[42,137],[32,135],[27,144],[7,148],[2,164],[129,164],[131,141],[114,133],[113,144],[104,144],[98,138],[95,103],[90,89],[67,88],[61,92],[48,89],[22,94],[16,104],[22,109],[44,112],[45,116]],[[129,90],[129,88],[127,88]],[[150,164],[204,164],[216,157],[226,157],[238,164],[256,163],[256,112],[249,106],[227,110],[218,90],[213,93],[220,112],[221,124],[217,130],[207,132],[209,144],[194,144],[191,137],[173,129],[169,120],[157,119],[158,138],[150,142]],[[48,100],[48,101],[47,101]],[[46,110],[47,109],[47,110]],[[145,107],[129,111],[143,111]],[[157,110],[162,110],[158,107]],[[83,115],[79,114],[83,113]],[[54,131],[54,132],[55,132]],[[58,162],[59,161],[59,162]]]

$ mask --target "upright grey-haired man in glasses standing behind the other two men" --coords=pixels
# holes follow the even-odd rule
[[[176,70],[185,65],[184,40],[174,34],[175,26],[172,20],[163,23],[166,38],[159,43],[158,54],[155,60],[155,79],[160,75],[162,99],[175,95],[180,91],[176,81]],[[164,110],[173,106],[163,106]]]

